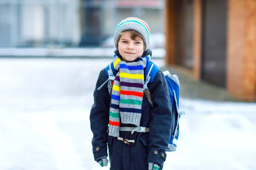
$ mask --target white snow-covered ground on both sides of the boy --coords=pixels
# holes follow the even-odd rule
[[[93,160],[89,114],[110,61],[0,59],[0,170],[109,169]],[[180,108],[164,170],[256,169],[255,103],[180,99]]]

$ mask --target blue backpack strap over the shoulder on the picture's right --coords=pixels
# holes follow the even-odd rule
[[[145,71],[144,71],[144,91],[145,94],[148,98],[148,102],[150,103],[150,105],[152,106],[152,108],[154,108],[153,102],[151,100],[151,94],[150,91],[148,90],[148,83],[152,83],[154,80],[154,77],[157,75],[157,72],[159,71],[159,68],[157,67],[157,65],[154,64],[154,62],[149,61]]]

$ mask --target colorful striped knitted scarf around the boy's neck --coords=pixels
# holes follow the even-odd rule
[[[125,62],[114,55],[114,68],[118,71],[113,83],[109,113],[109,135],[119,136],[122,123],[140,126],[143,100],[144,68],[151,55]]]

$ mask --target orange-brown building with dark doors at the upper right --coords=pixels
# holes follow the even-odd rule
[[[256,0],[166,0],[166,62],[256,101]]]

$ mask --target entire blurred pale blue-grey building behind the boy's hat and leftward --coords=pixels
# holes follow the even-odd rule
[[[163,6],[163,0],[0,0],[0,47],[99,46],[126,17],[163,33]]]

